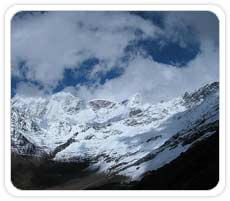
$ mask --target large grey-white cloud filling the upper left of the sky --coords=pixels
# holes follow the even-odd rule
[[[12,23],[13,74],[27,61],[27,78],[55,87],[65,68],[77,68],[97,57],[111,68],[134,39],[134,29],[146,36],[160,30],[126,12],[49,12]],[[18,75],[18,74],[17,74]]]

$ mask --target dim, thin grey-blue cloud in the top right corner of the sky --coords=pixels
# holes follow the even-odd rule
[[[219,20],[217,16],[212,12],[168,12],[168,14],[165,15],[165,24],[166,31],[169,33],[168,37],[172,40],[179,40],[182,46],[185,44],[184,39],[186,38],[180,35],[181,29],[188,30],[192,27],[193,32],[191,33],[191,30],[188,30],[186,37],[189,36],[189,34],[196,34],[196,37],[198,37],[200,41],[212,41],[214,46],[218,48]],[[171,32],[170,30],[175,31]]]

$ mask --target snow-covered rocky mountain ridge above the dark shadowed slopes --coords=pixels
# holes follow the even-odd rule
[[[219,83],[157,104],[88,103],[67,92],[12,98],[12,152],[56,161],[89,161],[108,174],[140,179],[218,132]]]

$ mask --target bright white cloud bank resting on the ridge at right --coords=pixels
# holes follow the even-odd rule
[[[158,102],[182,95],[218,80],[217,50],[206,44],[187,67],[177,68],[138,56],[125,73],[97,88],[81,86],[78,95],[85,99],[107,98],[121,101],[140,93],[148,102]]]

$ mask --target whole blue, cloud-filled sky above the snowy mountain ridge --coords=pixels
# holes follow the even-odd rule
[[[218,80],[218,19],[205,11],[20,12],[11,42],[12,96],[159,101]]]

